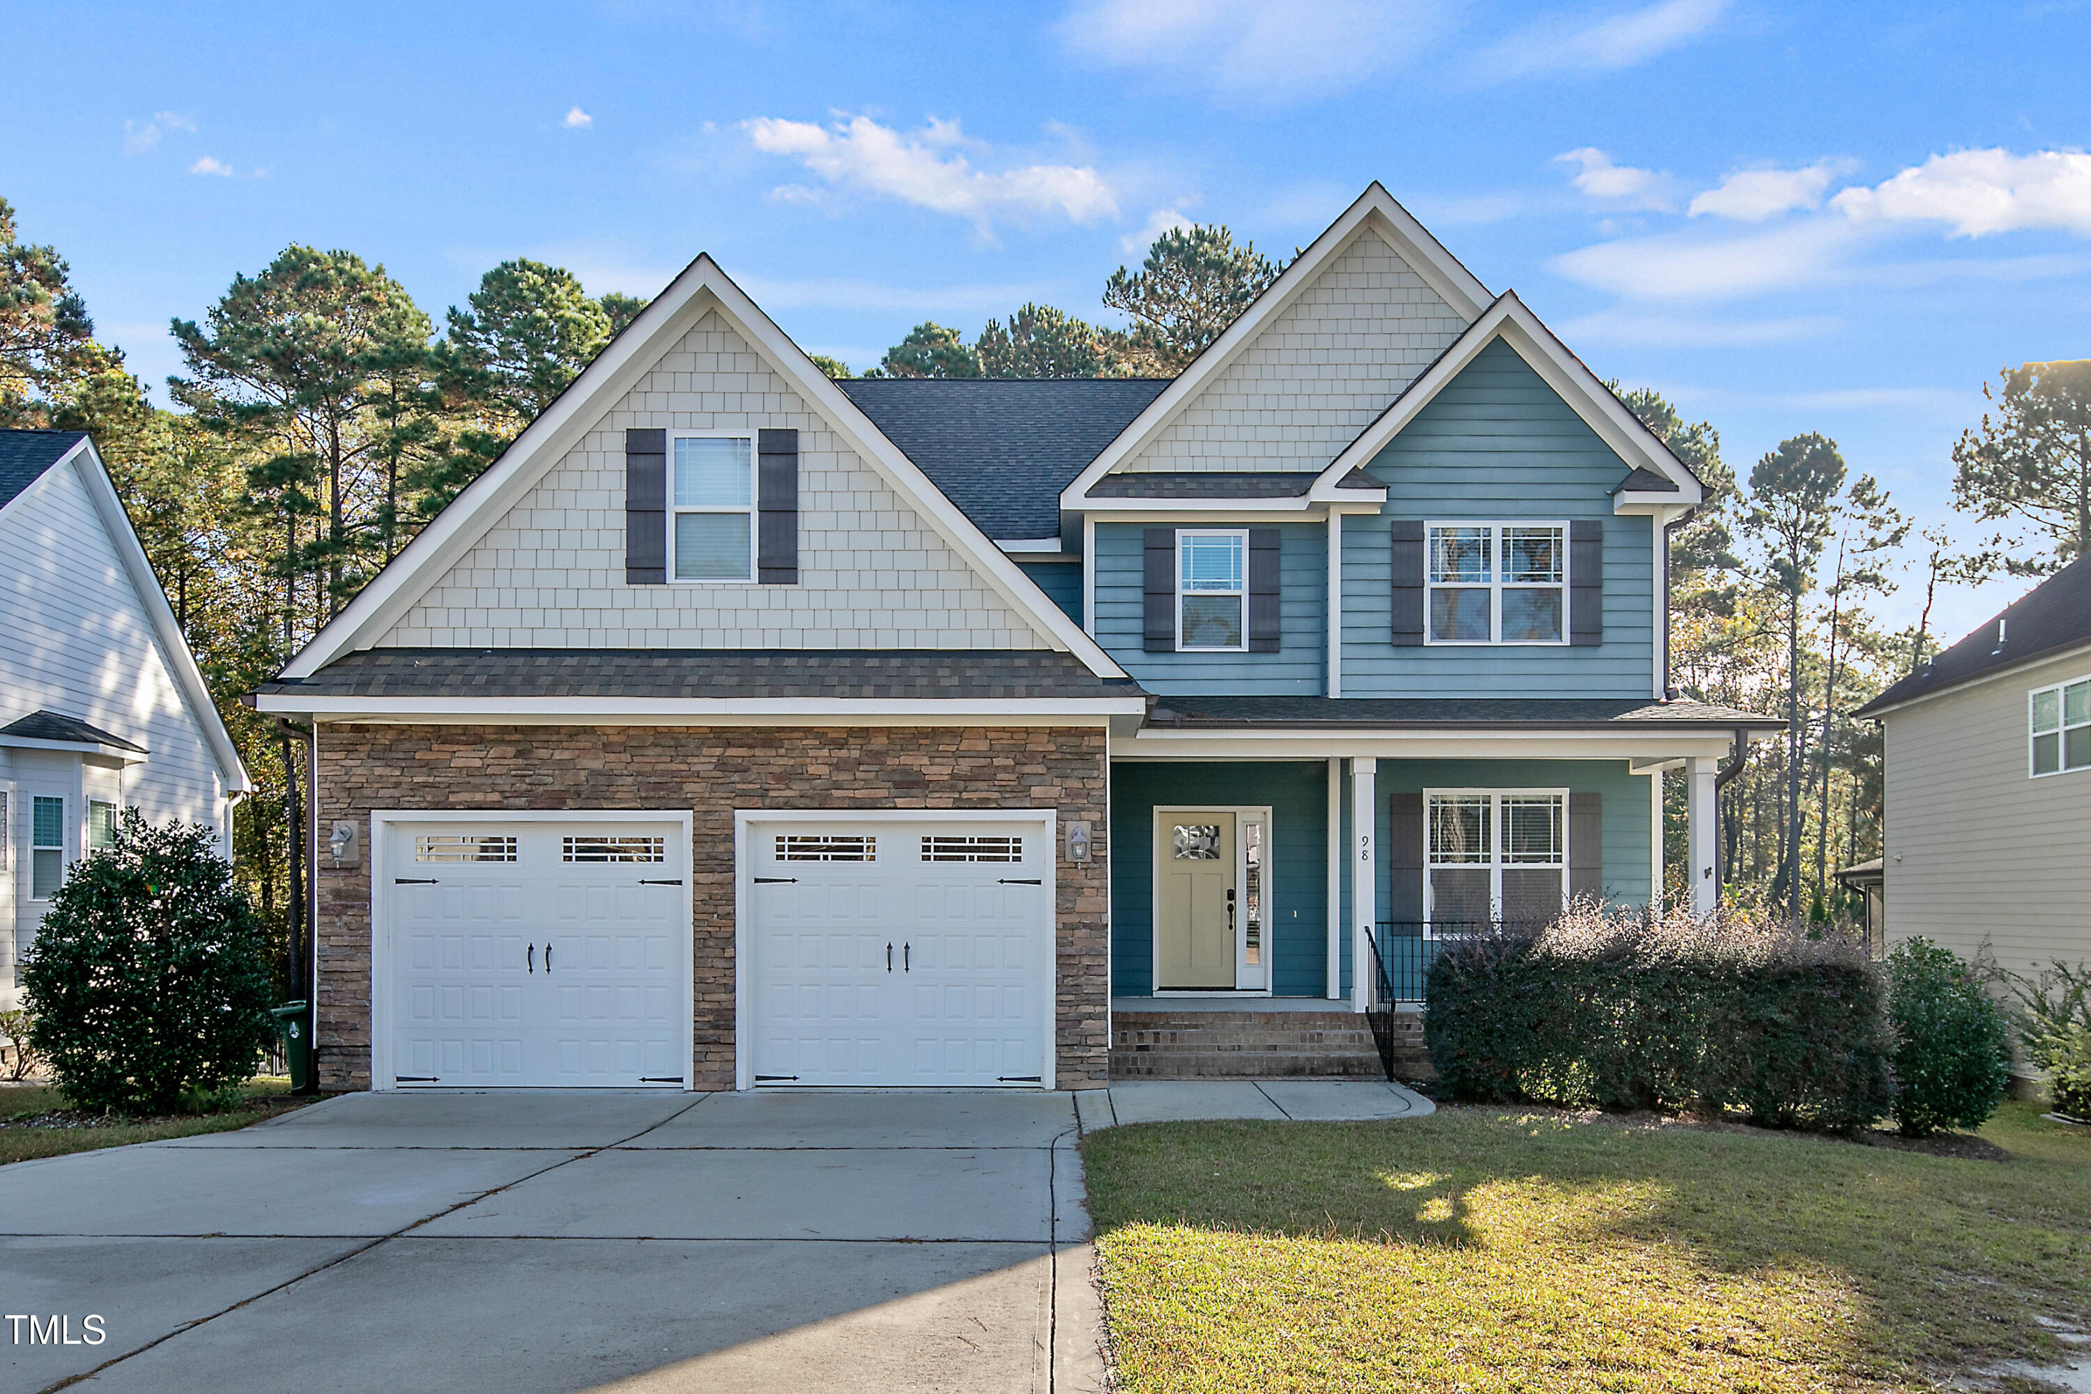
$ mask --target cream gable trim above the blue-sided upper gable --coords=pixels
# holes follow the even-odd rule
[[[1547,387],[1568,403],[1612,451],[1627,462],[1627,479],[1614,489],[1623,504],[1698,504],[1704,487],[1683,460],[1650,431],[1639,416],[1627,410],[1618,395],[1598,380],[1583,359],[1568,351],[1545,324],[1539,322],[1516,291],[1503,291],[1460,339],[1445,349],[1430,368],[1403,389],[1399,397],[1340,456],[1322,472],[1322,479],[1340,479],[1351,470],[1372,464],[1416,416],[1430,405],[1445,387],[1472,364],[1483,349],[1501,339],[1537,372]]]

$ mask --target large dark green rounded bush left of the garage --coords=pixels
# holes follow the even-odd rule
[[[261,922],[211,840],[132,809],[50,899],[23,1003],[75,1106],[174,1112],[251,1078],[274,1039]]]

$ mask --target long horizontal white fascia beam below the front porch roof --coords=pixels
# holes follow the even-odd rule
[[[1307,761],[1307,759],[1491,759],[1491,761],[1656,761],[1723,757],[1731,729],[1719,731],[1169,731],[1144,727],[1110,746],[1115,761]],[[1752,731],[1752,740],[1756,734]]]

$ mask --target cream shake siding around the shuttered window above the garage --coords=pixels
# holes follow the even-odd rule
[[[625,428],[799,431],[799,583],[625,583]],[[1048,648],[707,313],[378,648]]]

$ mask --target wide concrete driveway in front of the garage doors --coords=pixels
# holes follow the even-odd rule
[[[0,1168],[0,1390],[1102,1390],[1087,1241],[1066,1095],[347,1095]]]

